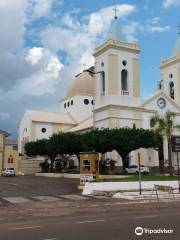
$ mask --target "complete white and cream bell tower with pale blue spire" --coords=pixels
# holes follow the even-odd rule
[[[126,41],[115,12],[105,42],[94,50],[95,127],[122,127],[120,108],[140,105],[139,53],[137,43]]]

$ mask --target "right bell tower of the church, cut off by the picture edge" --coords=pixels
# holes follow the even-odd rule
[[[170,58],[161,60],[160,88],[180,106],[180,26]]]

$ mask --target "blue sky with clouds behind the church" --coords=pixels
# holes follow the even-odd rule
[[[175,46],[180,0],[1,1],[0,129],[16,138],[25,109],[59,111],[73,76],[93,64],[115,6],[127,39],[141,48],[141,95],[157,90],[160,59]]]

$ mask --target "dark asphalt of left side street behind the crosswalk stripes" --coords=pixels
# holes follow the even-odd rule
[[[35,176],[0,177],[0,197],[78,193],[76,179]]]

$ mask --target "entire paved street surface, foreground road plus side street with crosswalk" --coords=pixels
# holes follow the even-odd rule
[[[0,240],[178,240],[180,236],[179,202],[85,197],[76,180],[23,176],[0,178],[0,183]],[[143,228],[141,236],[135,235],[136,227]],[[173,232],[147,234],[145,228]]]

